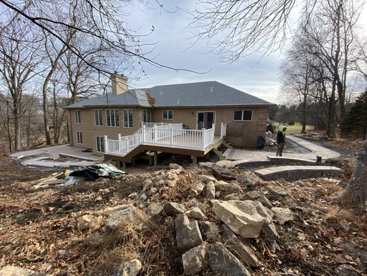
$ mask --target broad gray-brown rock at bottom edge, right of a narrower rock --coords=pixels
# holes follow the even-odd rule
[[[250,276],[249,271],[220,242],[209,246],[209,266],[218,276]]]

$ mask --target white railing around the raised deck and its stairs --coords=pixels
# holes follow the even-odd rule
[[[141,144],[154,144],[172,148],[187,148],[205,150],[214,142],[216,132],[214,124],[210,129],[186,130],[182,124],[144,123],[134,135],[121,137],[118,140],[107,139],[105,136],[105,153],[112,155],[127,155]],[[149,127],[151,126],[151,127]],[[225,135],[227,125],[221,124],[220,135]]]

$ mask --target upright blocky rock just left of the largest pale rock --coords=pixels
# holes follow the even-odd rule
[[[202,244],[198,221],[190,222],[186,215],[178,215],[175,219],[175,228],[177,247],[182,253]]]

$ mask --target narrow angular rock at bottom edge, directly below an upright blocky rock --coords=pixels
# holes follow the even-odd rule
[[[185,270],[185,275],[195,275],[205,268],[207,246],[208,244],[203,242],[200,246],[191,248],[187,253],[182,255],[182,264]]]

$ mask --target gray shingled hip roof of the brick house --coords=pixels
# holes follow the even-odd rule
[[[218,81],[170,84],[144,89],[130,89],[120,95],[101,95],[93,99],[78,101],[66,108],[86,108],[88,106],[149,106],[146,92],[156,102],[155,107],[186,106],[270,106],[264,101],[245,92],[226,86]]]

